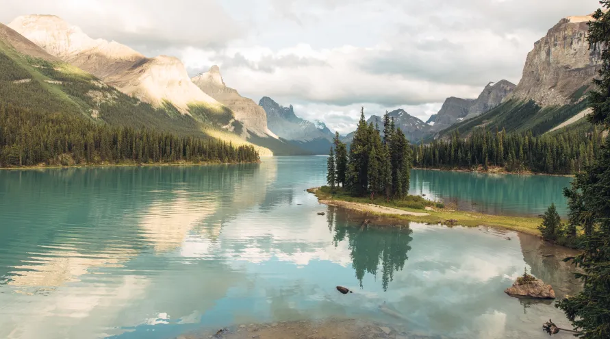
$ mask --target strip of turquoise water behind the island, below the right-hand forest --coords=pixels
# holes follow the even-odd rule
[[[563,188],[571,177],[485,174],[430,170],[411,171],[411,194],[454,203],[460,210],[487,214],[544,214],[555,203],[561,216],[568,213]]]

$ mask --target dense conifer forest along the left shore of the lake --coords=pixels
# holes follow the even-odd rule
[[[79,114],[45,114],[0,103],[0,167],[258,160],[253,146],[110,127]]]

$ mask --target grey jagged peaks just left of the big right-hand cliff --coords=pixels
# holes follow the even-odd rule
[[[487,84],[476,99],[447,98],[438,111],[431,130],[441,131],[459,121],[474,118],[496,108],[515,87],[510,81],[500,80],[495,84]]]

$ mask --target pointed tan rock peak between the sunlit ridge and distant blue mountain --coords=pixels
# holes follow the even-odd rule
[[[220,68],[212,66],[209,71],[193,77],[192,82],[210,97],[233,110],[236,119],[257,136],[277,136],[267,127],[265,110],[252,99],[242,97],[237,90],[227,87]]]

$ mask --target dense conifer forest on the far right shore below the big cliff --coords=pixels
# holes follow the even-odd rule
[[[602,138],[597,127],[586,126],[550,132],[542,136],[477,128],[468,138],[453,131],[450,140],[434,140],[414,146],[414,166],[421,168],[472,169],[500,166],[509,172],[548,174],[579,173],[600,153]]]

